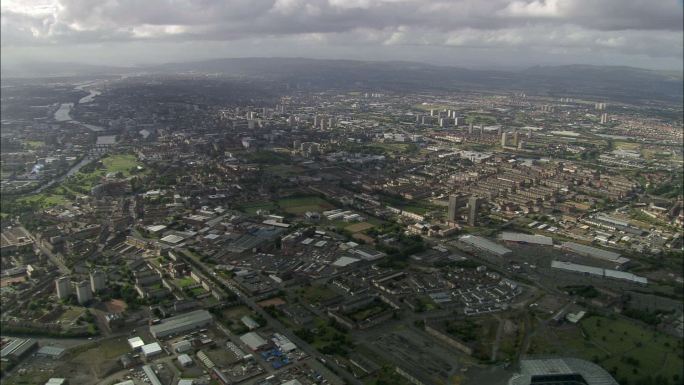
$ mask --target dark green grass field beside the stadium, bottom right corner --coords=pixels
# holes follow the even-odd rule
[[[627,383],[624,379],[633,383],[649,376],[662,376],[668,381],[662,385],[679,384],[674,379],[684,378],[682,342],[674,337],[629,320],[599,316],[585,318],[580,327],[548,329],[533,338],[532,353],[565,354],[594,361],[613,373],[621,384]]]

